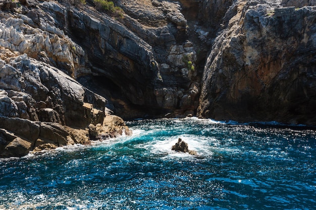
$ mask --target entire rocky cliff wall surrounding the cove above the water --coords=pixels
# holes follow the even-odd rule
[[[114,4],[0,1],[0,157],[129,134],[132,118],[316,124],[315,1]]]

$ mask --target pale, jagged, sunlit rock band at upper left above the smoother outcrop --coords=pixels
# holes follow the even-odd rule
[[[75,77],[88,72],[83,49],[65,36],[54,22],[48,21],[52,19],[49,13],[35,8],[26,10],[16,16],[8,13],[0,16],[0,46],[26,53]]]

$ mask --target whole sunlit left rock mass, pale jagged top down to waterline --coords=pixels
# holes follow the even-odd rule
[[[10,10],[0,12],[0,157],[86,145],[128,131],[119,117],[123,122],[111,118],[108,126],[107,100],[74,80],[87,69],[82,48],[46,21],[48,13],[33,11],[37,1],[23,3],[29,7],[13,3],[0,4]],[[39,17],[37,25],[20,14],[29,12]],[[89,125],[99,126],[102,135],[91,136]]]

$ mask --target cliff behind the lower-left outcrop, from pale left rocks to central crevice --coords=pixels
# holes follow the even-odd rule
[[[151,110],[194,113],[198,97],[189,89],[199,83],[197,65],[203,61],[188,28],[198,18],[198,1],[120,0],[116,4],[125,13],[117,20],[96,11],[92,1],[4,2],[0,46],[6,50],[26,53],[76,79],[92,74],[111,81],[125,109],[140,107],[128,112],[130,117]],[[197,32],[204,43],[208,32]],[[116,111],[128,115],[116,94],[110,95]]]

